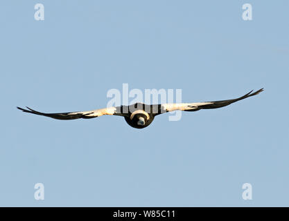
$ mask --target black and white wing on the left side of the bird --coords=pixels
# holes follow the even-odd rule
[[[94,111],[79,111],[79,112],[67,112],[67,113],[42,113],[38,111],[34,111],[31,108],[17,108],[21,111],[24,111],[26,113],[33,113],[35,115],[42,115],[45,117],[52,117],[54,119],[78,119],[78,118],[84,118],[84,119],[89,119],[89,118],[94,118],[94,117],[100,117],[102,115],[123,115],[119,111],[120,107],[111,107],[111,108],[103,108],[103,109],[97,109]]]

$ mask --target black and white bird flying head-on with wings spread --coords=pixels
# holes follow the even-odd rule
[[[234,102],[238,102],[241,99],[247,97],[252,97],[258,95],[263,91],[263,88],[252,93],[251,90],[249,93],[242,97],[236,99],[226,99],[216,102],[200,102],[200,103],[180,103],[180,104],[142,104],[136,103],[130,106],[116,106],[110,108],[97,109],[94,111],[77,111],[77,112],[68,112],[68,113],[42,113],[34,111],[31,108],[19,108],[19,110],[26,113],[33,113],[35,115],[42,115],[45,117],[52,117],[54,119],[90,119],[94,117],[100,117],[102,115],[117,115],[125,117],[125,121],[134,128],[145,128],[150,125],[155,118],[155,116],[166,113],[170,111],[199,111],[201,109],[213,109],[213,108],[222,108]]]

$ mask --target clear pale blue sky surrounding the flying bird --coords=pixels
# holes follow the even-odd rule
[[[44,21],[34,6],[44,4]],[[253,20],[243,21],[243,3]],[[289,206],[289,1],[0,1],[0,206]],[[107,90],[231,106],[58,121]],[[45,200],[34,199],[44,184]],[[242,185],[252,184],[252,200]]]

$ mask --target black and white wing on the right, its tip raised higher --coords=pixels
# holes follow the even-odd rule
[[[200,109],[222,108],[223,106],[227,106],[234,102],[238,102],[241,99],[258,95],[262,91],[263,91],[263,88],[261,88],[260,90],[257,90],[254,93],[252,93],[253,90],[251,90],[249,93],[247,93],[246,95],[242,97],[238,97],[236,99],[226,99],[223,101],[216,101],[216,102],[161,104],[159,105],[159,113],[166,113],[169,111],[199,111]]]

